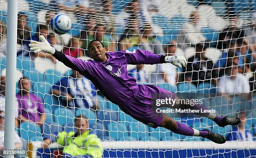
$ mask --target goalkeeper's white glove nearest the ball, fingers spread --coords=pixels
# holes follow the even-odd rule
[[[49,54],[54,54],[55,53],[55,49],[53,47],[51,47],[51,45],[49,44],[49,42],[44,38],[43,35],[41,35],[40,37],[41,42],[38,41],[30,41],[30,44],[28,44],[30,48],[30,50],[34,51],[35,53],[38,52],[47,52]]]

